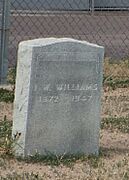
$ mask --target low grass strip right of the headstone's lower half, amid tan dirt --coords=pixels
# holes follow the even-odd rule
[[[118,129],[122,133],[129,133],[129,117],[104,118],[101,121],[101,128]]]

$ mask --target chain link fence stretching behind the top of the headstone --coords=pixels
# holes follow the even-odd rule
[[[105,46],[106,57],[126,58],[128,7],[127,0],[12,0],[9,64],[16,63],[20,41],[41,37],[86,40]]]

